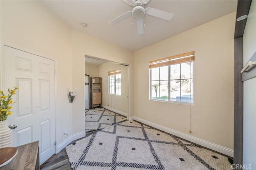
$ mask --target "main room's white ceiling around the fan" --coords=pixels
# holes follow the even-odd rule
[[[237,0],[151,0],[151,7],[174,14],[171,21],[145,15],[144,34],[138,35],[132,17],[115,26],[109,21],[131,11],[122,0],[42,1],[67,25],[98,39],[135,51],[236,11]],[[133,24],[131,24],[133,21]],[[82,27],[84,22],[88,26]]]

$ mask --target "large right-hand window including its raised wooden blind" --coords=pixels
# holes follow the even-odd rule
[[[193,103],[194,51],[149,62],[150,100]]]

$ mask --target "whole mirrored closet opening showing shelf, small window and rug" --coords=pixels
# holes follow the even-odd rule
[[[128,64],[85,56],[85,80],[89,80],[88,90],[85,90],[85,101],[89,96],[89,108],[85,109],[86,132],[128,120],[128,71]],[[100,79],[101,82],[93,79]],[[100,88],[101,93],[93,93],[92,84],[97,85],[94,88]],[[97,103],[92,102],[93,98],[94,101],[97,99]]]

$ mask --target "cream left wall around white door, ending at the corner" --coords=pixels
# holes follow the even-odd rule
[[[64,129],[68,134],[72,129],[71,29],[39,1],[1,1],[1,43],[56,60],[56,141],[61,143],[68,137]]]

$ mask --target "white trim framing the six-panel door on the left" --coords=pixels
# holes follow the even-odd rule
[[[33,52],[30,52],[30,51],[28,51],[28,50],[24,50],[24,49],[20,49],[20,48],[18,48],[18,47],[15,47],[15,45],[8,45],[8,43],[4,43],[4,42],[1,42],[1,57],[0,57],[0,63],[1,63],[1,67],[2,67],[2,69],[0,69],[0,89],[4,89],[4,80],[5,80],[5,78],[4,78],[4,46],[6,46],[6,47],[11,47],[11,48],[13,48],[13,49],[17,49],[17,50],[20,50],[20,51],[24,51],[24,52],[26,52],[26,53],[30,53],[30,54],[32,54],[32,55],[36,55],[36,56],[38,56],[38,57],[43,57],[42,55],[38,55],[38,54],[36,54],[36,53],[33,53]],[[56,81],[56,66],[57,66],[57,61],[56,61],[56,59],[51,59],[51,58],[49,58],[49,57],[43,57],[43,58],[45,58],[45,59],[49,59],[49,60],[52,60],[52,61],[54,61],[54,90],[55,90],[55,94],[54,94],[54,102],[55,102],[55,108],[54,108],[54,117],[55,117],[55,121],[54,121],[54,131],[55,131],[55,139],[54,139],[54,141],[56,141],[56,134],[57,134],[57,132],[56,132],[56,96],[57,96],[57,94],[56,94],[56,86],[57,86],[57,81]],[[58,151],[58,147],[57,147],[57,145],[55,145],[55,154],[56,153],[58,153],[57,152]]]

